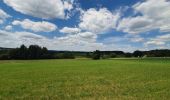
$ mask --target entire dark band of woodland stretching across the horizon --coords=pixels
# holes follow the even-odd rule
[[[125,53],[123,51],[99,51],[80,52],[80,51],[54,51],[38,45],[26,47],[21,45],[19,48],[0,48],[0,60],[29,60],[29,59],[74,59],[74,58],[131,58],[131,57],[170,57],[170,50],[150,50],[134,51]]]

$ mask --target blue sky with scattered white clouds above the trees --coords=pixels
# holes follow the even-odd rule
[[[170,0],[0,0],[0,47],[170,49]]]

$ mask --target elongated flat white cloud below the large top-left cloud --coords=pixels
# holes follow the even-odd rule
[[[24,29],[29,29],[34,32],[52,32],[57,29],[57,26],[53,23],[42,21],[34,22],[29,19],[23,21],[15,20],[12,22],[13,25],[20,25]]]

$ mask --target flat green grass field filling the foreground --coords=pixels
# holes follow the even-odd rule
[[[0,61],[0,100],[170,100],[170,59]]]

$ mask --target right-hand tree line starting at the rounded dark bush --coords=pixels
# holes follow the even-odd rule
[[[93,59],[106,59],[106,58],[142,58],[142,57],[170,57],[170,50],[150,50],[150,51],[139,51],[136,50],[133,53],[124,53],[123,51],[94,51],[92,56]]]

